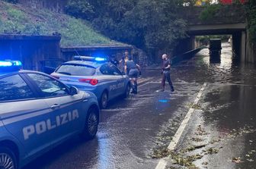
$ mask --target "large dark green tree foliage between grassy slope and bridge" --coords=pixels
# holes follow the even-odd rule
[[[70,0],[72,5],[76,2]],[[85,0],[83,2],[92,6],[95,15],[90,21],[94,28],[112,39],[136,45],[147,51],[158,49],[171,51],[177,39],[186,36],[186,24],[176,13],[178,5],[181,5],[183,0]],[[67,8],[69,6],[71,7],[68,5]],[[76,10],[72,15],[86,19],[81,11]]]

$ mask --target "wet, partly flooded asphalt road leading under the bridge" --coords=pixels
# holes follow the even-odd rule
[[[254,168],[256,71],[254,65],[232,58],[231,47],[224,43],[219,63],[210,61],[209,50],[203,49],[190,61],[174,65],[175,92],[168,85],[159,92],[159,68],[146,68],[142,75],[146,81],[137,95],[116,99],[101,111],[95,139],[85,142],[75,136],[24,168],[155,168],[158,159],[151,158],[152,152],[168,146],[203,83],[206,89],[177,151],[200,144],[206,150],[215,146],[216,154],[204,155],[203,149],[188,153],[203,155],[194,161],[200,168]],[[199,127],[205,133],[195,134]],[[196,136],[202,139],[191,142]],[[214,140],[218,141],[211,144]]]

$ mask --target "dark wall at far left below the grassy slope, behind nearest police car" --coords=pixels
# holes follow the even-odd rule
[[[42,70],[42,61],[60,59],[60,36],[0,35],[0,60],[19,60],[26,70]]]

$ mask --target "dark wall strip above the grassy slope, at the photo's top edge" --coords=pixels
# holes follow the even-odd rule
[[[29,8],[46,8],[50,11],[63,13],[69,0],[18,0],[21,5]]]

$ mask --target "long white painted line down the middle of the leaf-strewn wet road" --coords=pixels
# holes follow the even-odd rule
[[[198,102],[200,100],[200,97],[202,96],[203,90],[205,89],[206,85],[207,85],[207,83],[203,83],[202,88],[200,89],[200,91],[197,94],[197,99],[194,100],[194,105],[198,104]],[[177,132],[175,133],[174,137],[172,138],[172,140],[171,140],[171,142],[170,142],[170,144],[168,146],[168,149],[170,151],[174,150],[175,147],[177,146],[178,141],[179,141],[179,139],[181,139],[181,135],[184,132],[184,129],[187,126],[188,121],[190,120],[191,114],[193,112],[194,112],[194,108],[190,108],[188,110],[186,117],[184,117],[184,120],[182,121],[180,127],[178,128]],[[155,169],[165,169],[166,164],[167,164],[167,161],[165,159],[161,159],[158,162],[158,165],[155,167]]]

